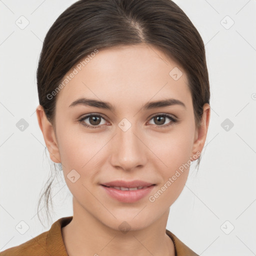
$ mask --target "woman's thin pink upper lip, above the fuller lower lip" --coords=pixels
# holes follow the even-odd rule
[[[136,180],[132,180],[132,181],[114,180],[114,181],[102,183],[101,185],[108,186],[108,187],[114,187],[114,188],[120,189],[120,190],[132,190],[129,188],[134,188],[133,190],[135,190],[135,188],[141,189],[141,188],[145,188],[145,187],[155,185],[155,184],[136,179]]]

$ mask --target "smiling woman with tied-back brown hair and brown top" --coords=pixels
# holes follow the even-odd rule
[[[197,255],[166,229],[210,118],[203,41],[170,0],[80,0],[53,23],[36,108],[73,216],[4,255]]]

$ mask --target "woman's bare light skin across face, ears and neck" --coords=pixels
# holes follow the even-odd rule
[[[169,75],[173,67],[183,72],[178,80]],[[210,106],[203,106],[201,126],[196,129],[187,83],[185,71],[155,47],[111,47],[99,50],[58,92],[55,130],[42,107],[36,108],[50,158],[62,163],[73,195],[73,219],[62,228],[69,256],[174,255],[165,228],[169,207],[181,193],[189,167],[154,202],[148,197],[195,152],[202,151]],[[79,97],[107,101],[116,109],[69,107]],[[148,101],[166,98],[178,99],[185,107],[141,109]],[[96,128],[87,128],[77,121],[89,113],[102,116]],[[165,117],[161,124],[152,118],[162,113],[175,115],[179,122]],[[131,124],[125,132],[118,126],[123,118]],[[83,122],[91,126],[95,123],[89,118]],[[80,175],[74,183],[67,177],[72,169]],[[99,185],[116,179],[141,179],[156,185],[139,201],[120,202]],[[118,228],[123,221],[131,228],[126,233]]]

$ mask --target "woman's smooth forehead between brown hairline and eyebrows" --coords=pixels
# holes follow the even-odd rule
[[[75,74],[71,75],[72,72]],[[169,97],[191,103],[184,70],[151,45],[99,49],[83,65],[74,65],[63,81],[66,76],[68,82],[57,95],[57,105],[61,107],[82,96],[111,101],[114,105]]]

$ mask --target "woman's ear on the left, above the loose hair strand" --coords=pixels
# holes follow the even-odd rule
[[[56,163],[61,162],[53,126],[48,121],[44,109],[41,105],[36,107],[36,115],[46,147],[49,151],[50,159]]]

